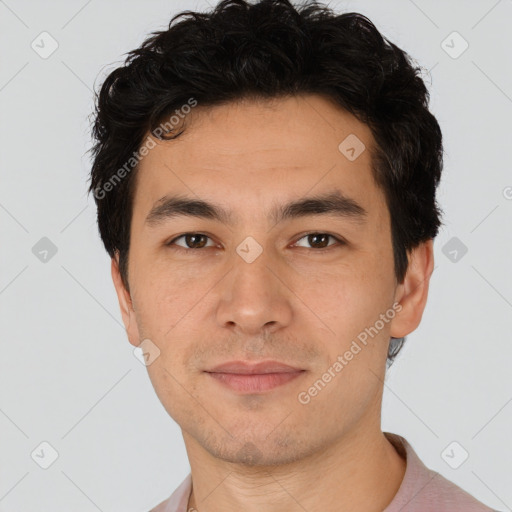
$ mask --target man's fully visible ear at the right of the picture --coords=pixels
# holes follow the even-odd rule
[[[404,282],[395,291],[402,309],[391,321],[391,336],[403,338],[418,327],[427,303],[430,276],[434,269],[433,240],[429,239],[408,254],[409,266]]]

